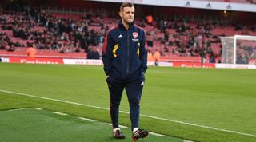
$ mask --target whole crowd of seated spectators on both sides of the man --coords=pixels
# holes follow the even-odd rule
[[[101,15],[90,14],[80,18],[59,17],[58,14],[45,13],[23,5],[9,5],[0,12],[3,15],[0,17],[2,30],[12,30],[13,37],[33,41],[36,49],[52,49],[60,53],[86,52],[90,59],[100,58],[100,50],[96,47],[102,45],[106,31],[117,20],[113,18],[115,22],[103,22]],[[149,16],[138,23],[144,28],[152,27],[152,30],[146,30],[152,53],[158,50],[161,56],[172,53],[181,57],[209,57],[210,62],[215,62],[215,58],[221,56],[221,52],[213,51],[212,45],[221,45],[218,37],[226,35],[213,34],[213,30],[233,26],[227,22],[192,22],[190,18],[182,16],[154,19]],[[98,28],[94,30],[91,27]],[[256,30],[256,26],[247,27],[239,23],[233,27],[234,30],[244,31],[244,34]],[[0,36],[0,49],[6,49],[6,45],[18,46],[18,43],[10,42],[10,37],[6,34],[2,33]],[[15,48],[7,49],[11,51]]]

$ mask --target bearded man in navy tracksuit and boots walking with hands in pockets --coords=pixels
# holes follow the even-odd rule
[[[124,89],[130,105],[132,139],[138,140],[148,135],[148,131],[138,127],[139,102],[147,69],[146,33],[134,24],[134,11],[134,5],[130,2],[120,6],[121,19],[117,26],[108,31],[102,49],[102,61],[110,91],[113,136],[117,139],[125,138],[118,126],[119,105]]]

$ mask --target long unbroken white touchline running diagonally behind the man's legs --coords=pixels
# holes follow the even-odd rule
[[[15,94],[15,95],[22,95],[22,96],[26,96],[26,97],[36,97],[36,98],[50,100],[50,101],[58,101],[58,102],[62,102],[62,103],[67,103],[67,104],[72,104],[72,105],[81,105],[81,106],[86,106],[86,107],[90,107],[90,108],[98,108],[98,109],[103,109],[103,110],[108,110],[108,111],[110,110],[109,108],[102,108],[102,107],[98,107],[98,106],[94,106],[94,105],[86,105],[86,104],[80,104],[80,103],[71,102],[71,101],[63,101],[63,100],[58,100],[58,99],[52,99],[52,98],[49,98],[49,97],[38,97],[38,96],[26,94],[26,93],[15,93],[15,92],[6,91],[6,90],[2,90],[2,89],[0,89],[0,92],[11,93],[11,94]],[[129,114],[129,112],[125,112],[125,111],[120,111],[120,112]],[[144,116],[144,117],[147,117],[147,118],[152,118],[152,119],[155,119],[155,120],[164,120],[164,121],[170,121],[170,122],[174,122],[174,123],[178,123],[178,124],[186,124],[186,125],[189,125],[189,126],[194,126],[194,127],[199,127],[199,128],[208,128],[208,129],[213,129],[213,130],[217,130],[217,131],[221,131],[221,132],[229,132],[229,133],[234,133],[234,134],[238,134],[238,135],[242,135],[242,136],[256,137],[256,135],[250,134],[250,133],[237,132],[237,131],[233,131],[233,130],[226,130],[226,129],[223,129],[223,128],[214,128],[214,127],[210,127],[210,126],[204,126],[204,125],[201,125],[201,124],[191,124],[191,123],[183,122],[183,121],[180,121],[180,120],[170,120],[170,119],[166,119],[166,118],[161,118],[161,117],[157,117],[157,116],[148,116],[148,115],[144,115],[144,114],[141,114],[140,116]]]

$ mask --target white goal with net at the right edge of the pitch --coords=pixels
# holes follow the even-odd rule
[[[220,37],[222,41],[222,63],[256,64],[256,36],[235,35]]]

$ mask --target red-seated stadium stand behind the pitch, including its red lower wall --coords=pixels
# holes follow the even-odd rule
[[[99,58],[106,31],[118,20],[105,14],[47,13],[18,5],[6,7],[1,13],[1,54],[14,56],[26,55],[26,46],[34,43],[37,57]],[[256,35],[256,26],[180,15],[155,17],[150,23],[146,18],[136,21],[147,31],[150,50],[160,51],[163,61],[198,61],[200,55],[207,61],[210,57],[220,61],[219,36]]]

